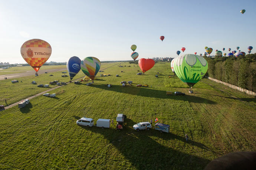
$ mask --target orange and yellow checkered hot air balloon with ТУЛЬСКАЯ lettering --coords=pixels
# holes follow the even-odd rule
[[[52,47],[49,43],[40,39],[28,40],[20,47],[20,54],[24,60],[36,71],[45,64],[52,54]]]

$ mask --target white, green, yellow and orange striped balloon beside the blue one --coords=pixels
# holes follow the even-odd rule
[[[96,57],[86,57],[81,61],[81,69],[85,75],[94,80],[96,74],[101,68],[101,62]]]

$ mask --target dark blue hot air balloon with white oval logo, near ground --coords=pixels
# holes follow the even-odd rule
[[[72,80],[74,76],[78,74],[78,72],[80,71],[81,69],[80,64],[81,64],[80,58],[76,56],[69,58],[67,62],[67,69],[70,76],[70,80]]]

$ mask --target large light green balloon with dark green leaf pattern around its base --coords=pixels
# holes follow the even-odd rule
[[[208,63],[199,55],[184,54],[175,58],[173,69],[181,81],[193,87],[206,74]]]

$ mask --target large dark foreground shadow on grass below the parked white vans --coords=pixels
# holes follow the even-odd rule
[[[128,122],[130,125],[136,124],[132,120]],[[138,170],[203,169],[210,162],[168,147],[169,140],[178,139],[181,145],[185,142],[183,137],[171,133],[160,133],[154,129],[137,132],[129,126],[124,126],[121,132],[115,128],[101,129],[95,126],[91,128],[81,126],[81,128],[103,135]],[[165,143],[165,146],[161,143]],[[201,143],[188,142],[188,145],[205,149]]]

